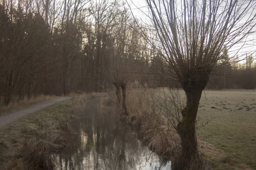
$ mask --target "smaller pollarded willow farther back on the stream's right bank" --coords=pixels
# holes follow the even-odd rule
[[[108,68],[110,77],[113,85],[116,87],[116,96],[119,104],[122,101],[123,116],[128,115],[126,107],[126,86],[128,82],[134,82],[136,74],[131,74],[131,70],[136,67],[136,58],[138,51],[135,43],[137,39],[142,38],[137,34],[136,23],[133,22],[131,14],[125,9],[122,11],[122,15],[119,17],[119,24],[116,26],[116,35],[111,39],[111,48],[109,49],[109,61]],[[120,90],[122,89],[122,97]]]

